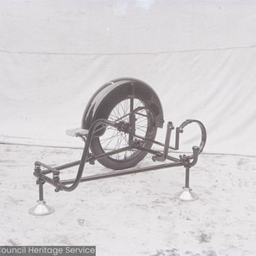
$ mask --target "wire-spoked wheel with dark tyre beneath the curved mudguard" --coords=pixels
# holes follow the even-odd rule
[[[137,97],[137,98],[136,98]],[[91,151],[95,156],[129,146],[131,139],[137,139],[140,145],[151,148],[157,133],[155,115],[142,97],[129,98],[125,94],[118,94],[111,99],[103,99],[98,109],[100,118],[115,121],[116,126],[97,127],[100,132],[91,141]],[[132,132],[131,132],[132,131]],[[97,132],[95,133],[97,135]],[[146,138],[146,139],[145,139]],[[111,169],[130,168],[140,162],[147,152],[129,148],[112,156],[98,159],[102,165]]]

